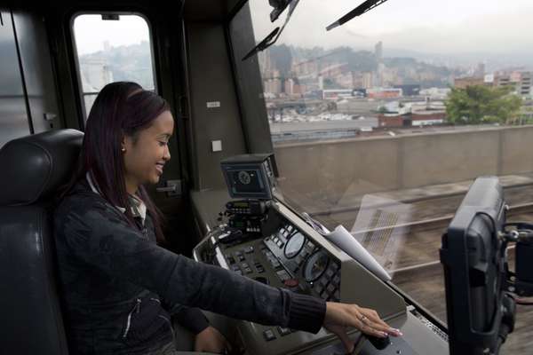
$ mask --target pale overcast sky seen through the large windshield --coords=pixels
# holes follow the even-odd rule
[[[326,32],[331,22],[362,0],[300,0],[279,43],[331,48],[348,45],[450,54],[472,51],[532,51],[532,0],[389,0],[374,10]],[[282,20],[270,23],[267,0],[250,0],[256,39]]]

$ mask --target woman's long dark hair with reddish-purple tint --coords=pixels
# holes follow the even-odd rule
[[[147,129],[164,111],[170,111],[169,104],[154,92],[143,90],[138,83],[117,82],[104,86],[87,118],[76,176],[66,186],[65,193],[89,173],[101,196],[113,206],[124,207],[125,217],[138,228],[126,191],[122,141],[124,136],[135,141],[139,131]],[[163,243],[161,211],[144,186],[139,186],[137,193],[154,221],[157,241]]]

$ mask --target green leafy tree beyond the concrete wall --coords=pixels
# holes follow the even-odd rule
[[[485,85],[453,88],[445,102],[448,121],[454,124],[518,122],[522,99],[510,87]]]

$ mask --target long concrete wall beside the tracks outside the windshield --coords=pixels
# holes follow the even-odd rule
[[[533,126],[275,146],[282,190],[335,205],[362,195],[533,171]]]

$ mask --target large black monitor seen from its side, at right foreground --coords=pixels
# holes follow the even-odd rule
[[[505,209],[497,177],[478,177],[442,236],[450,355],[497,353],[505,317],[505,255],[498,238]]]

